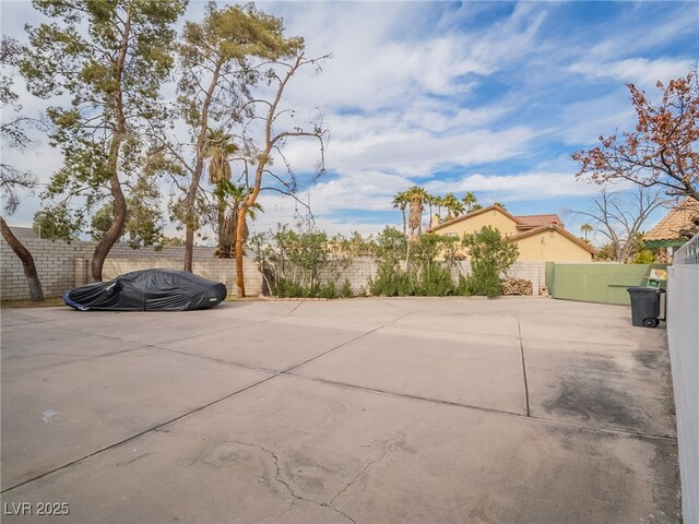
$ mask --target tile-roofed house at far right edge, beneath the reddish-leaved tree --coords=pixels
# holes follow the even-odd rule
[[[699,202],[685,199],[673,207],[657,225],[643,237],[649,248],[661,248],[661,258],[671,255],[697,233]]]

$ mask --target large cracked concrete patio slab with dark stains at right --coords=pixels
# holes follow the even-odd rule
[[[2,522],[678,523],[665,331],[629,319],[532,297],[4,309]]]

